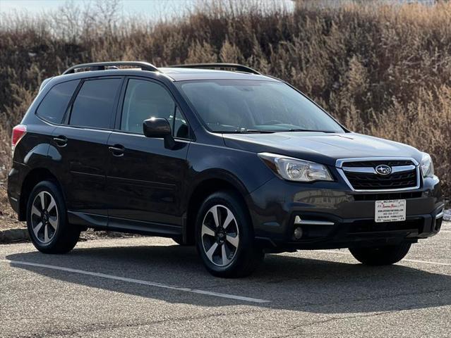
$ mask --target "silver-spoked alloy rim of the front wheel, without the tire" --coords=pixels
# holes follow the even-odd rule
[[[234,260],[239,246],[239,229],[229,208],[219,204],[212,206],[205,213],[200,236],[210,262],[224,267]]]

